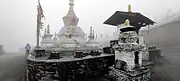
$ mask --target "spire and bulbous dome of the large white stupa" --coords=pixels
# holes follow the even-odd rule
[[[74,0],[69,0],[69,10],[66,16],[63,17],[65,26],[77,26],[79,19],[74,12]]]

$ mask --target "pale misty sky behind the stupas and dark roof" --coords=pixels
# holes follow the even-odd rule
[[[41,0],[46,24],[51,30],[59,32],[63,26],[62,17],[66,15],[69,0]],[[80,19],[79,26],[89,33],[92,26],[97,34],[114,31],[113,26],[104,25],[115,11],[127,11],[128,4],[132,11],[141,12],[157,22],[168,15],[180,13],[179,0],[75,0],[75,13]],[[6,51],[17,51],[25,44],[36,44],[36,9],[37,0],[0,0],[0,44]]]

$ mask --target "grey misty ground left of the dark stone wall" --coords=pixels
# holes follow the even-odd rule
[[[21,81],[25,71],[23,54],[8,53],[0,56],[0,81]]]

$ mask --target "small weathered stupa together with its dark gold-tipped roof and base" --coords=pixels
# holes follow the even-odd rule
[[[144,61],[146,53],[143,37],[139,35],[141,27],[155,22],[139,12],[116,11],[104,24],[117,27],[117,39],[111,42],[115,50],[115,65],[109,75],[116,81],[151,81],[152,62]]]

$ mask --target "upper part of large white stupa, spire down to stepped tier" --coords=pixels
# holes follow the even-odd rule
[[[58,33],[59,39],[64,39],[67,34],[71,33],[73,40],[76,40],[79,43],[85,43],[86,34],[78,27],[79,18],[75,15],[73,6],[74,0],[69,0],[69,11],[66,16],[63,17],[64,27]],[[59,41],[60,43],[61,40]]]

